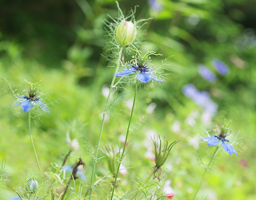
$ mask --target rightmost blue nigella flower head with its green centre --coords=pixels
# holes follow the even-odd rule
[[[224,126],[221,126],[221,128],[216,126],[215,131],[217,132],[217,135],[212,137],[204,137],[201,140],[207,141],[208,146],[217,146],[218,144],[221,144],[224,151],[227,151],[230,155],[232,153],[237,155],[235,148],[231,144],[227,143],[229,140],[225,139],[225,137],[231,133],[230,129],[228,128],[230,123],[231,120],[229,123],[227,123],[227,120],[225,119]]]

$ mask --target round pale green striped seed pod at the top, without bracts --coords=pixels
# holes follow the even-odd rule
[[[137,29],[131,21],[124,21],[116,28],[116,41],[120,46],[129,46],[137,34]]]

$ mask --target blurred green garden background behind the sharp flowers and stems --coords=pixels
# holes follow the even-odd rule
[[[166,69],[173,74],[163,85],[148,84],[138,93],[133,123],[140,117],[155,115],[145,119],[145,128],[129,135],[131,148],[125,164],[133,168],[121,175],[122,180],[128,181],[127,185],[123,181],[123,189],[135,189],[131,180],[150,174],[154,162],[145,152],[150,143],[148,135],[154,133],[166,136],[169,142],[180,140],[171,151],[165,178],[159,185],[170,179],[174,199],[191,199],[203,173],[195,148],[206,163],[208,153],[212,154],[195,129],[206,137],[204,129],[212,130],[227,118],[233,121],[230,126],[233,135],[240,131],[237,141],[246,138],[247,149],[237,145],[237,156],[218,154],[213,173],[206,175],[197,198],[204,199],[209,194],[209,200],[255,200],[256,1],[123,0],[119,4],[126,14],[139,5],[136,19],[153,17],[144,26],[147,34],[140,49],[145,52],[152,47],[163,54],[152,57],[155,66],[169,57]],[[43,114],[32,123],[41,166],[49,171],[51,163],[61,165],[61,155],[69,150],[66,141],[69,133],[72,140],[79,141],[80,148],[68,163],[73,165],[79,157],[84,160],[85,184],[90,181],[92,160],[81,134],[69,127],[83,131],[91,145],[96,144],[104,91],[114,73],[101,55],[105,54],[102,20],[110,20],[108,14],[117,17],[113,0],[0,2],[1,89],[6,84],[4,78],[19,92],[26,86],[24,79],[34,83],[42,80],[41,89],[53,105],[50,114]],[[225,63],[229,73],[219,74],[213,59]],[[199,74],[200,65],[215,74],[215,81],[209,82]],[[196,99],[184,95],[186,84],[207,91],[215,110],[209,113]],[[133,91],[128,86],[124,91],[128,93],[119,100],[119,109],[123,111],[117,110],[118,114],[112,113],[105,121],[102,144],[117,146],[116,141],[122,141],[120,135],[125,132],[128,105],[133,97],[130,90]],[[9,174],[6,184],[10,188],[2,187],[0,198],[7,200],[15,196],[12,188],[23,185],[32,171],[37,174],[37,167],[28,135],[28,115],[11,106],[14,99],[9,91],[0,92],[0,158],[6,159]],[[105,160],[99,163],[96,173],[98,176],[109,173]]]

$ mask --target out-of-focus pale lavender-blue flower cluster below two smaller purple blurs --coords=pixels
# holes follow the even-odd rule
[[[207,91],[198,91],[192,83],[189,83],[182,88],[185,96],[192,99],[195,104],[204,108],[204,111],[214,116],[218,110],[218,104],[211,100]]]

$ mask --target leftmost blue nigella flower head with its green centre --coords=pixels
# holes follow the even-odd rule
[[[23,112],[28,112],[30,111],[34,105],[38,105],[43,111],[45,112],[50,112],[47,106],[42,102],[43,100],[40,97],[36,97],[38,94],[40,94],[40,90],[36,87],[37,83],[30,83],[26,81],[30,87],[26,87],[24,91],[27,92],[27,95],[21,95],[17,96],[17,101],[15,107],[21,105],[21,109]]]

